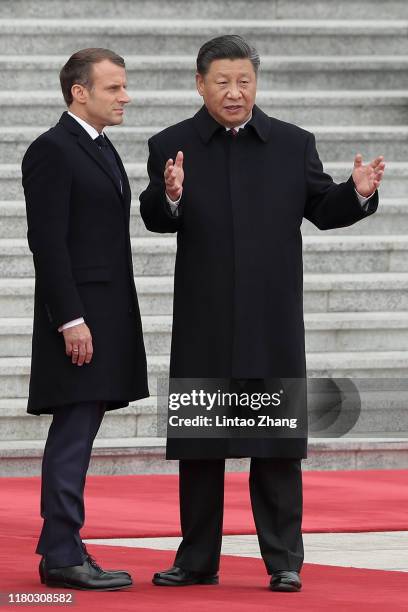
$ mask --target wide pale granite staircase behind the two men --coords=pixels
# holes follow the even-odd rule
[[[165,376],[171,333],[174,236],[146,232],[138,194],[147,138],[193,114],[199,46],[240,33],[261,54],[258,104],[316,134],[325,169],[348,178],[355,153],[387,161],[378,212],[343,230],[305,222],[304,308],[310,376],[393,379],[361,393],[346,438],[311,438],[306,468],[408,466],[408,4],[404,0],[3,0],[0,3],[0,475],[38,474],[49,418],[25,414],[33,267],[20,164],[64,110],[58,72],[83,47],[125,56],[124,126],[109,132],[133,190],[136,285],[152,393]],[[109,413],[94,473],[165,472],[156,397]],[[245,461],[231,462],[234,469]]]

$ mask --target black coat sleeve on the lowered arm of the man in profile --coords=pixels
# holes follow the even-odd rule
[[[71,173],[62,151],[45,138],[28,148],[22,173],[37,287],[49,322],[57,329],[85,316],[67,245]]]

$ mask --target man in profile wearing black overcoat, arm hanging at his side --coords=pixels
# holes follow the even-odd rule
[[[60,74],[68,106],[22,164],[35,267],[28,412],[52,414],[42,466],[37,553],[49,586],[114,590],[127,572],[87,553],[84,485],[106,410],[147,397],[146,355],[129,236],[131,193],[103,133],[123,121],[126,71],[107,49],[74,54]]]

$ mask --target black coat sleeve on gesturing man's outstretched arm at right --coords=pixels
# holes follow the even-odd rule
[[[377,210],[378,191],[363,208],[354,190],[352,176],[346,182],[336,184],[323,171],[313,134],[309,135],[306,144],[305,178],[307,195],[303,216],[319,229],[347,227]]]

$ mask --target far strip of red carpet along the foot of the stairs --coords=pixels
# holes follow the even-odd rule
[[[226,534],[255,533],[247,480],[226,475]],[[303,481],[304,532],[408,530],[408,470],[304,472]],[[173,475],[89,477],[83,537],[179,535],[177,482]],[[0,535],[37,537],[39,479],[0,483]]]

